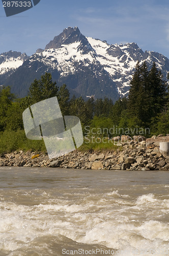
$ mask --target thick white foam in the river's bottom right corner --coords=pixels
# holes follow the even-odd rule
[[[132,254],[133,248],[138,250],[137,254],[139,255],[139,251],[145,248],[157,250],[162,246],[163,249],[167,250],[168,236],[169,229],[167,225],[160,222],[150,221],[136,226],[130,223],[118,224],[109,221],[99,223],[93,229],[87,231],[83,242],[100,243],[119,251],[126,250],[126,246],[128,246],[131,252],[129,255],[134,255]],[[122,254],[118,253],[118,255]]]

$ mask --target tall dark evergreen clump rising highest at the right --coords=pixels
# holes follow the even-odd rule
[[[149,72],[146,62],[141,67],[137,62],[128,99],[130,118],[134,117],[139,125],[149,127],[166,103],[166,81],[155,62]]]

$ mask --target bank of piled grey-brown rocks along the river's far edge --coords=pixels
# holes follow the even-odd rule
[[[13,152],[2,154],[0,166],[63,167],[108,170],[169,170],[169,158],[159,151],[159,141],[166,137],[138,140],[123,139],[116,151],[79,152],[74,151],[57,159],[49,160],[47,154],[34,152]],[[125,138],[126,139],[126,138]],[[169,137],[167,138],[169,139]]]

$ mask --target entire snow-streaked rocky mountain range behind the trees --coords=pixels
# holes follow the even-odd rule
[[[10,58],[12,53],[6,53],[7,57]],[[15,59],[19,56],[16,55]],[[119,97],[127,96],[137,60],[140,63],[146,60],[149,67],[155,61],[166,79],[169,59],[164,55],[153,51],[143,52],[135,42],[109,45],[106,41],[82,35],[77,27],[68,27],[55,36],[45,50],[38,49],[31,57],[25,55],[24,61],[18,62],[18,66],[10,69],[8,61],[7,72],[0,73],[0,84],[12,86],[12,92],[23,97],[35,78],[39,79],[45,72],[50,72],[58,86],[67,84],[71,95],[108,97],[115,102]]]

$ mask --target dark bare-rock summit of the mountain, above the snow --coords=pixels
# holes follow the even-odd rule
[[[85,36],[83,36],[80,33],[80,30],[78,29],[78,27],[65,28],[60,35],[55,36],[53,40],[51,40],[49,44],[46,45],[45,50],[51,49],[51,48],[54,48],[54,49],[62,48],[62,45],[69,45],[75,41],[80,41],[84,39],[83,37]]]

